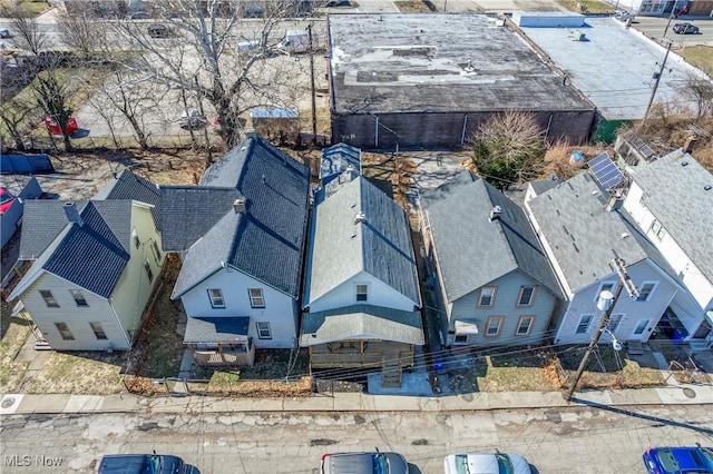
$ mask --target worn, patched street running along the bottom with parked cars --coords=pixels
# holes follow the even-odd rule
[[[13,415],[2,473],[90,473],[106,453],[172,453],[202,473],[315,473],[324,453],[395,451],[414,473],[455,452],[519,453],[535,473],[645,473],[651,446],[713,444],[710,406],[492,412]],[[48,460],[49,464],[48,465]],[[14,464],[14,465],[13,465]],[[17,465],[25,464],[25,465]]]

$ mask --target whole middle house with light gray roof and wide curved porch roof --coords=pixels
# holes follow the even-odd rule
[[[323,191],[323,190],[322,190]],[[300,345],[313,368],[380,367],[400,384],[423,345],[409,221],[358,176],[325,198],[311,225]],[[389,375],[385,375],[389,374]]]

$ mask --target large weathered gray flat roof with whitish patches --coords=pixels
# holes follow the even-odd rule
[[[330,16],[335,112],[593,109],[496,20],[469,13]]]

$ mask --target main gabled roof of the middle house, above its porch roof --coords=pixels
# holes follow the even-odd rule
[[[367,221],[354,224],[360,213]],[[315,206],[303,305],[309,306],[360,271],[421,305],[406,213],[361,176],[342,184],[339,191]]]

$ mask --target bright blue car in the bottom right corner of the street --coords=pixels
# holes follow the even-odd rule
[[[651,474],[713,473],[710,447],[652,447],[643,457]]]

